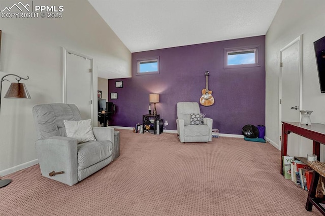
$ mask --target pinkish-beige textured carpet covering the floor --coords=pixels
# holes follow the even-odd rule
[[[13,182],[0,189],[0,215],[320,215],[280,175],[269,143],[120,135],[120,157],[73,187],[42,177],[38,165],[5,176]]]

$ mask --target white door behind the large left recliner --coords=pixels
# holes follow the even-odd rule
[[[76,104],[82,119],[92,119],[91,61],[88,58],[66,53],[66,103]]]

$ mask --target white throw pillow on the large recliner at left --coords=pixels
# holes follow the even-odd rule
[[[63,120],[67,137],[76,138],[78,143],[96,140],[92,132],[91,120],[67,121]]]

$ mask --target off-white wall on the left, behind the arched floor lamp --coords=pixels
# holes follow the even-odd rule
[[[18,2],[1,1],[0,10]],[[93,57],[94,73],[111,71],[114,76],[131,77],[131,52],[88,1],[34,1],[34,5],[37,4],[62,5],[63,17],[0,18],[0,76],[29,76],[24,83],[31,96],[31,99],[2,99],[0,175],[37,163],[36,131],[31,110],[36,104],[63,101],[61,47]],[[9,80],[15,81],[14,77],[9,77]],[[8,87],[9,82],[4,82],[3,95]]]

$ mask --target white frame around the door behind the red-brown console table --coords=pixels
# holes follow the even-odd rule
[[[302,107],[302,74],[303,74],[303,34],[299,35],[298,38],[296,38],[295,40],[291,41],[289,44],[287,44],[286,46],[284,46],[282,49],[280,49],[279,51],[279,56],[280,56],[280,63],[279,63],[279,67],[280,67],[280,73],[279,73],[279,136],[280,137],[282,135],[282,123],[281,123],[281,119],[282,119],[282,110],[281,110],[281,103],[280,103],[280,99],[282,99],[282,67],[281,67],[281,62],[282,62],[282,52],[284,50],[286,50],[287,48],[289,48],[290,46],[294,45],[296,42],[299,43],[299,109],[301,109]],[[301,120],[301,116],[299,115],[299,122]],[[281,137],[282,140],[283,137]],[[280,140],[279,143],[279,150],[281,150],[282,148],[282,141]],[[299,154],[300,152],[300,137],[299,137]]]

